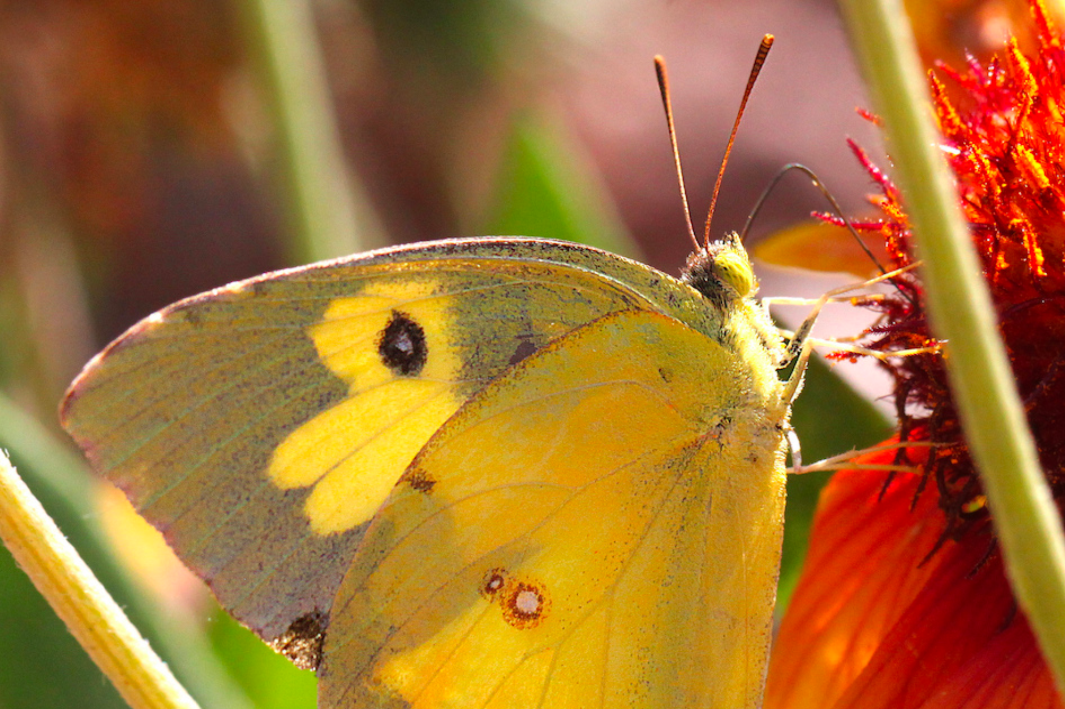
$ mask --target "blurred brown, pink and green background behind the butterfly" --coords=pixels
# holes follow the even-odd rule
[[[955,63],[1027,12],[916,6],[927,55]],[[675,274],[690,243],[652,57],[669,62],[699,231],[766,32],[715,234],[789,162],[871,214],[846,138],[888,162],[825,0],[0,0],[0,445],[204,706],[311,707],[313,677],[228,621],[86,474],[55,417],[81,366],[180,298],[391,243],[557,237]],[[789,176],[751,238],[824,208]],[[760,273],[764,294],[854,280]],[[824,376],[796,412],[807,459],[884,431]],[[792,493],[805,513],[789,502],[785,596],[817,483]],[[0,709],[63,706],[124,705],[0,548]]]

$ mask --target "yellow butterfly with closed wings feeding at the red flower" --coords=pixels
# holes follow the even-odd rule
[[[802,377],[756,290],[735,235],[387,249],[147,318],[63,424],[321,707],[754,707]]]

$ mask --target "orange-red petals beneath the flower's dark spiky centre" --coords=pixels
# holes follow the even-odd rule
[[[934,484],[837,473],[773,648],[766,707],[1055,707],[990,538],[948,541]],[[882,499],[879,499],[884,490]],[[913,505],[913,509],[911,509]]]

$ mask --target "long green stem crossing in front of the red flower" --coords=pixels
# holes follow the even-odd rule
[[[929,316],[966,440],[994,512],[1006,571],[1065,694],[1065,541],[1039,468],[953,175],[938,150],[927,78],[899,0],[840,5],[914,224]]]

